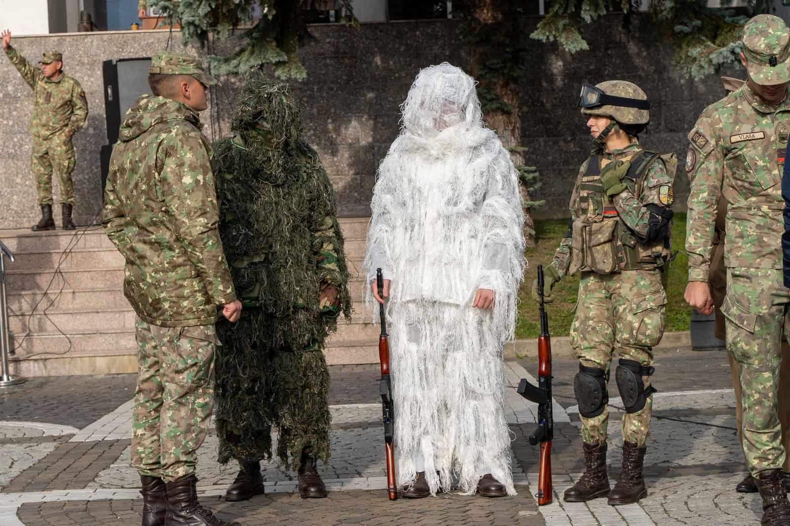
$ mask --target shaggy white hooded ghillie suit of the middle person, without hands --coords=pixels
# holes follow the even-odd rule
[[[489,472],[515,494],[502,349],[526,263],[517,171],[459,68],[421,70],[401,110],[364,262],[370,279],[381,267],[392,280],[398,483],[412,483],[424,463],[432,494],[453,478],[472,494]],[[493,310],[472,309],[478,288],[495,291]],[[378,310],[369,289],[366,302]]]

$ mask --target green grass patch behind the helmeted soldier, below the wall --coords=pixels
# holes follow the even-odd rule
[[[530,295],[532,280],[537,276],[538,265],[548,265],[554,259],[554,252],[568,229],[568,220],[536,221],[536,245],[525,252],[529,267],[524,283],[518,293],[519,304],[517,338],[536,338],[540,333],[538,306]],[[678,250],[675,261],[669,269],[667,285],[667,314],[665,331],[686,331],[689,329],[691,309],[683,300],[683,292],[688,281],[688,256],[684,250],[686,242],[686,214],[676,213],[672,220],[672,251]],[[579,275],[566,276],[556,284],[552,295],[554,302],[547,306],[549,329],[552,336],[568,336],[570,323],[574,320]]]

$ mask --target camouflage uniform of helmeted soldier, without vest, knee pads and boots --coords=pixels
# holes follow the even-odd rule
[[[628,160],[643,152],[638,141],[614,152],[600,152],[600,166],[617,160]],[[664,162],[652,163],[645,176],[641,193],[635,196],[631,190],[623,190],[613,201],[604,201],[600,177],[585,176],[590,160],[581,165],[574,192],[570,198],[571,221],[574,225],[599,222],[611,214],[618,218],[619,231],[629,235],[633,231],[645,235],[649,213],[644,208],[653,203],[660,206],[672,205],[672,178]],[[602,213],[603,212],[603,213]],[[578,228],[578,227],[577,227]],[[560,243],[551,265],[560,277],[569,273],[571,261],[579,256],[573,244],[574,228]],[[579,235],[577,235],[579,237]],[[628,242],[637,242],[630,234]],[[662,240],[663,242],[663,240]],[[661,247],[663,248],[663,246]],[[584,366],[598,367],[609,371],[612,354],[616,351],[621,358],[634,360],[642,366],[653,365],[653,347],[664,334],[664,305],[667,295],[661,284],[660,270],[656,260],[648,251],[646,261],[637,268],[602,274],[590,269],[581,272],[578,304],[574,322],[570,328],[570,344]],[[659,249],[659,253],[662,250]],[[575,269],[570,269],[574,273]],[[645,388],[650,377],[642,380]],[[623,415],[623,439],[645,444],[652,414],[653,396],[649,396],[641,411]],[[603,443],[607,438],[609,411],[593,418],[581,418],[581,435],[587,443]]]

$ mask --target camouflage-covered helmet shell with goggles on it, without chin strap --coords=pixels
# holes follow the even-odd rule
[[[605,81],[595,85],[593,89],[591,86],[585,90],[585,85],[581,88],[581,96],[579,96],[579,106],[581,106],[582,115],[598,115],[600,117],[609,117],[615,119],[620,124],[647,124],[650,120],[649,102],[647,95],[641,90],[638,85],[629,81]],[[607,95],[608,97],[600,97],[598,92]],[[596,100],[592,98],[598,97],[601,104],[596,104]],[[634,105],[634,101],[645,101],[644,104],[639,104],[639,107],[621,106],[618,100],[623,103]]]

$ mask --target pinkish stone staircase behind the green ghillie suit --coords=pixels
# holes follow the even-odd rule
[[[340,220],[352,271],[355,315],[340,321],[325,350],[330,364],[378,361],[378,331],[362,319],[356,276],[368,218]],[[101,227],[86,231],[0,231],[6,260],[11,372],[21,376],[137,371],[134,310],[123,296],[123,258]],[[64,336],[65,335],[65,336]]]

